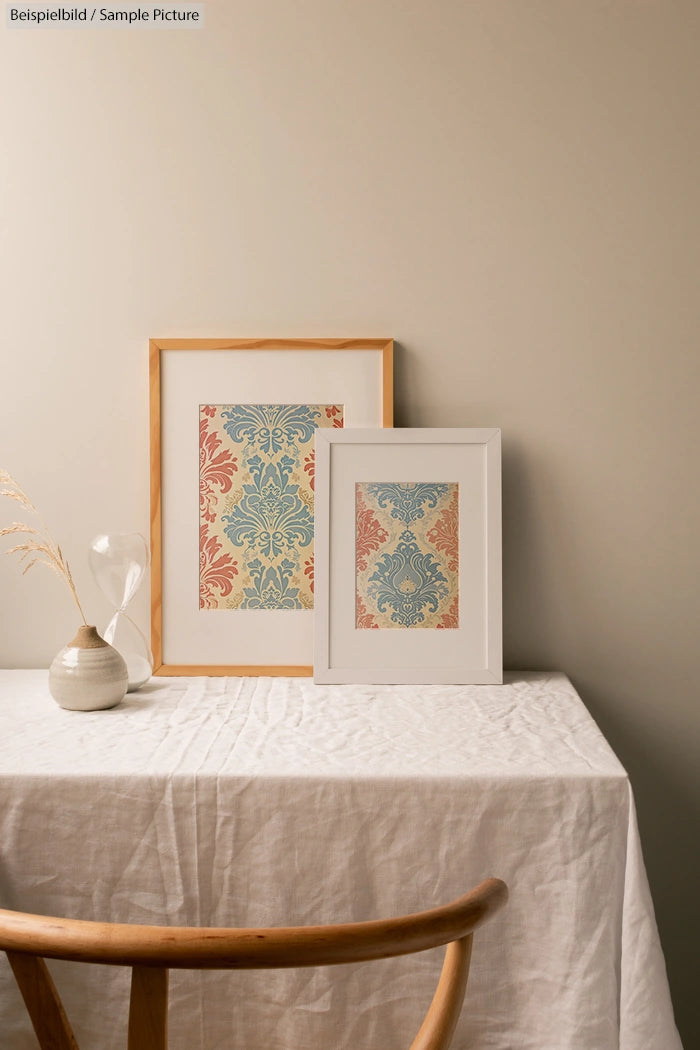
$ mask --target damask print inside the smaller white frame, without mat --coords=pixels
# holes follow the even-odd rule
[[[358,629],[459,623],[459,484],[359,482],[355,486]]]

